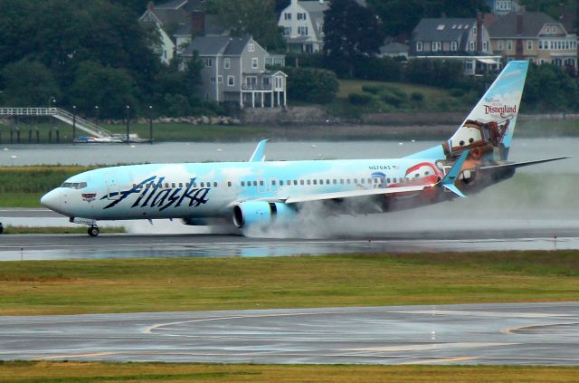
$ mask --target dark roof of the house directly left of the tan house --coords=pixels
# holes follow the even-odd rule
[[[476,24],[474,18],[424,18],[413,31],[415,41],[458,41]]]

